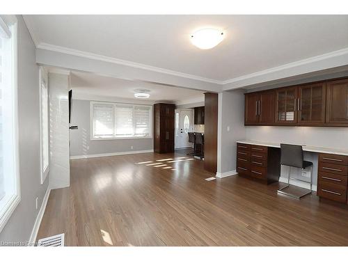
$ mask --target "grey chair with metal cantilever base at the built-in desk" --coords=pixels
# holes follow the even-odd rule
[[[280,166],[285,165],[289,166],[289,175],[287,177],[287,185],[278,189],[278,193],[285,194],[286,196],[290,196],[292,198],[300,199],[303,196],[306,196],[312,193],[312,174],[313,174],[313,162],[304,161],[303,160],[303,149],[301,145],[290,145],[290,144],[280,144]],[[289,192],[284,191],[287,187],[290,187],[290,179],[292,180],[300,180],[295,177],[290,177],[290,169],[291,167],[301,168],[302,170],[310,167],[310,182],[301,180],[301,182],[310,183],[310,189],[305,189],[304,193],[300,195],[295,195]]]

